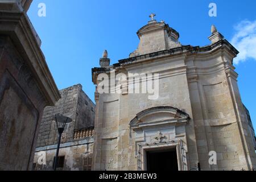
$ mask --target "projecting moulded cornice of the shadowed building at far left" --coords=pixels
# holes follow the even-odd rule
[[[0,23],[0,34],[10,36],[20,55],[30,67],[48,105],[55,105],[60,98],[60,93],[26,13],[0,11]]]

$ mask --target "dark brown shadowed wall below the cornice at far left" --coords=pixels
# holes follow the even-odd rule
[[[0,169],[26,170],[46,101],[11,40],[0,42]]]

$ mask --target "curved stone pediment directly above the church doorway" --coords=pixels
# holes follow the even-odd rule
[[[131,120],[133,128],[144,126],[170,125],[171,123],[187,122],[189,115],[171,106],[152,107],[141,111]]]

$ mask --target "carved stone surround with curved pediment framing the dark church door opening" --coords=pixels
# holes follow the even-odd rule
[[[139,171],[147,169],[147,151],[173,149],[177,152],[179,170],[188,169],[187,146],[183,146],[183,143],[187,143],[185,125],[189,119],[187,113],[175,107],[159,106],[143,110],[131,120],[129,125],[135,135],[135,156]],[[177,130],[182,132],[177,133]]]

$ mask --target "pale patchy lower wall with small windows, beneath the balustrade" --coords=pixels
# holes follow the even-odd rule
[[[83,140],[62,143],[59,157],[64,157],[64,166],[57,168],[62,171],[90,171],[92,164],[93,137]],[[51,171],[56,155],[56,145],[39,147],[34,158],[35,171]],[[43,158],[45,157],[45,164]],[[40,163],[42,162],[42,163]]]

